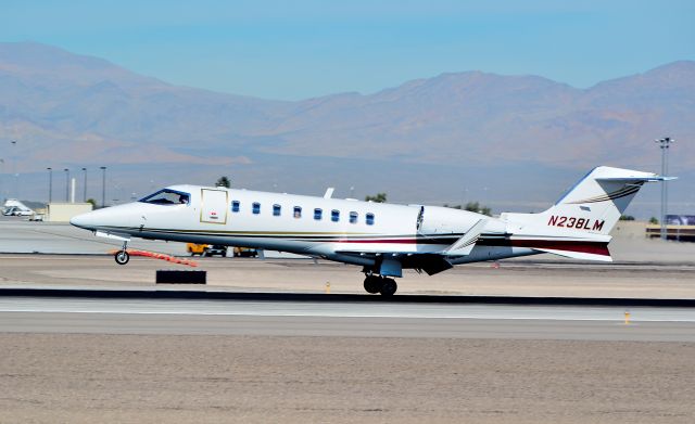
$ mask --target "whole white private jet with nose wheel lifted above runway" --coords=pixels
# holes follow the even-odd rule
[[[645,182],[672,178],[601,166],[539,214],[498,218],[427,205],[172,185],[138,202],[74,217],[73,226],[131,237],[290,252],[362,267],[364,288],[393,295],[404,269],[429,275],[456,265],[538,254],[610,261],[610,230]]]

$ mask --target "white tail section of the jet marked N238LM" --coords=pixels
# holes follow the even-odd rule
[[[502,214],[515,245],[569,258],[611,261],[610,231],[652,172],[599,166],[540,214]]]

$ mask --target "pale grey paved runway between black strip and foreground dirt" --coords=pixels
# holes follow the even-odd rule
[[[2,297],[0,332],[695,342],[695,308]]]

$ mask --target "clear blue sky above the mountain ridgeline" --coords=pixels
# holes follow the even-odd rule
[[[268,99],[460,70],[584,88],[695,59],[695,1],[4,0],[0,41],[27,40]]]

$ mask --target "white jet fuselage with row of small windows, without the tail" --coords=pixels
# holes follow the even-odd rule
[[[535,253],[501,242],[504,221],[466,210],[198,185],[166,190],[189,197],[186,203],[141,201],[99,209],[72,223],[119,235],[276,249],[365,267],[389,254],[412,256],[402,260],[404,268],[419,268],[419,255],[446,249],[485,219],[473,252],[452,258],[452,264]]]

